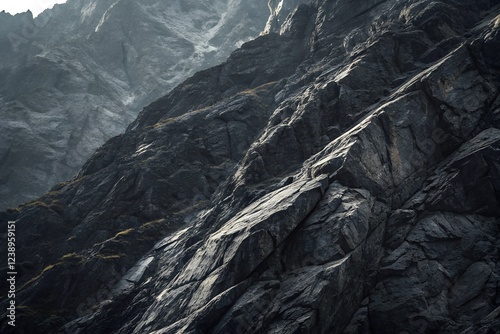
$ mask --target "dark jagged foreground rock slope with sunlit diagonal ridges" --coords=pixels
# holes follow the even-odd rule
[[[2,213],[21,330],[499,331],[499,15],[317,0],[275,20]]]

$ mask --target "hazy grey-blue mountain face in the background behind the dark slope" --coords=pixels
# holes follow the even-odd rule
[[[73,177],[144,105],[264,29],[265,0],[69,0],[0,14],[0,209]],[[29,157],[29,158],[28,158]]]

